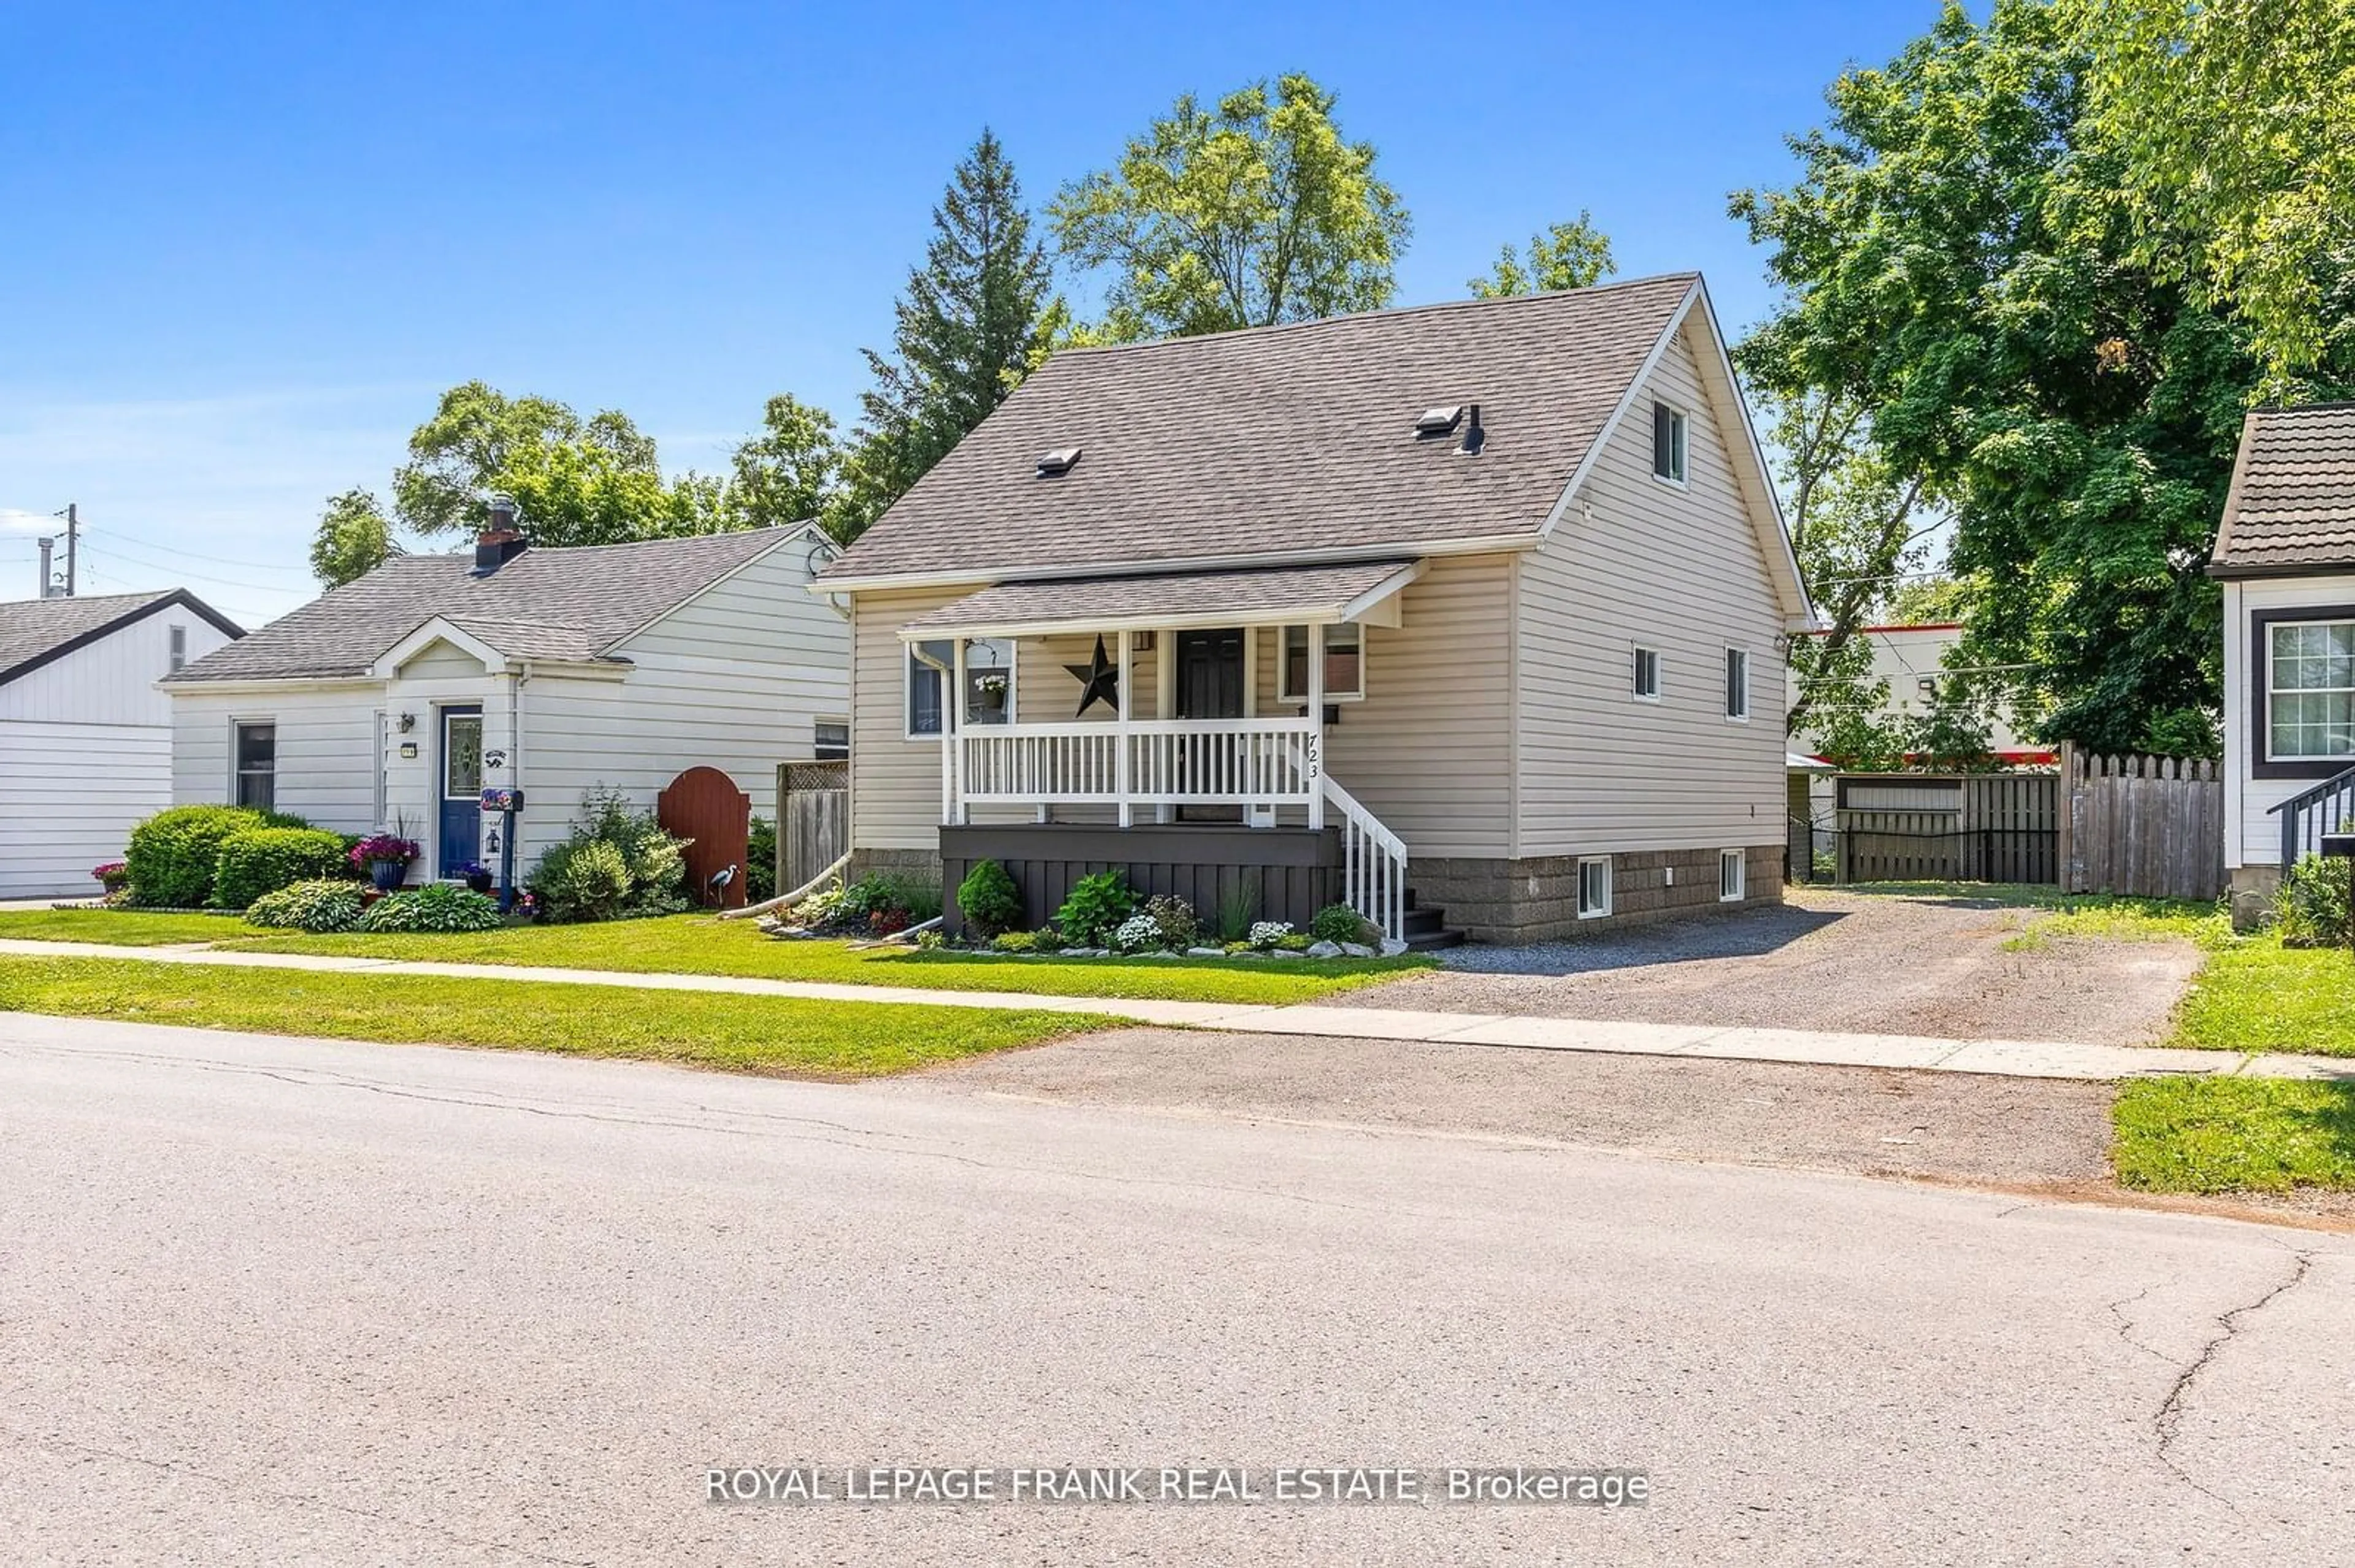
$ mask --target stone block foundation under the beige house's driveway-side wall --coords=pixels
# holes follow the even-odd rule
[[[1606,850],[1594,850],[1604,855]],[[1578,857],[1408,862],[1415,902],[1474,942],[1564,942],[1623,925],[1783,902],[1783,845],[1745,845],[1740,902],[1717,897],[1717,850],[1611,855],[1611,913],[1578,918]]]

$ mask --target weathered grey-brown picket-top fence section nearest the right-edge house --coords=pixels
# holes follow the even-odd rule
[[[2174,756],[2061,749],[2061,890],[2223,897],[2223,775]]]

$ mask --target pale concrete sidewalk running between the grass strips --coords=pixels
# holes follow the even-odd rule
[[[2287,1052],[2162,1050],[2143,1045],[2075,1045],[2068,1041],[1950,1041],[1910,1034],[1827,1034],[1816,1029],[1726,1029],[1712,1024],[1634,1024],[1604,1019],[1507,1017],[1493,1012],[1411,1012],[1300,1003],[1189,1003],[1119,996],[1039,996],[1029,991],[933,991],[921,986],[850,986],[747,975],[629,975],[516,963],[431,963],[419,958],[349,958],[320,954],[231,954],[203,946],[111,946],[101,942],[0,939],[0,956],[134,958],[257,970],[318,970],[334,975],[440,975],[455,979],[535,979],[575,986],[641,991],[728,991],[735,996],[796,996],[843,1003],[916,1003],[930,1008],[1008,1008],[1029,1012],[1093,1012],[1137,1024],[1227,1029],[1241,1034],[1314,1034],[1333,1038],[1420,1041],[1429,1045],[1502,1045],[1512,1050],[1594,1050],[1627,1057],[1724,1057],[1745,1062],[1813,1062],[1825,1067],[1903,1067],[2009,1078],[2141,1078],[2152,1074],[2247,1078],[2348,1078],[2350,1057]]]

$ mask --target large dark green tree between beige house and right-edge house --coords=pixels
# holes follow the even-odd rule
[[[2138,259],[2087,71],[2070,16],[1997,0],[1832,82],[1799,179],[1733,198],[1783,297],[1743,363],[1870,412],[1875,461],[1983,584],[1969,662],[2021,666],[2009,697],[2049,737],[2214,744],[2202,565],[2258,372]]]

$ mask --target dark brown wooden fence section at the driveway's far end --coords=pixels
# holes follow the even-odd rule
[[[2051,772],[1844,772],[1835,779],[1842,883],[2058,881]]]

